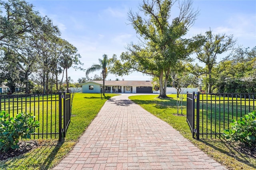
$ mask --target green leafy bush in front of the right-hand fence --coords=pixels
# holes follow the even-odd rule
[[[232,120],[231,128],[224,130],[224,138],[230,141],[240,141],[249,146],[256,144],[256,113],[252,111],[238,121]]]

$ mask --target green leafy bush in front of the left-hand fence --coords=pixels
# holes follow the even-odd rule
[[[30,138],[30,134],[39,127],[39,121],[34,121],[32,113],[22,112],[16,117],[9,118],[9,114],[0,111],[0,151],[8,151],[10,148],[19,148],[21,138]]]

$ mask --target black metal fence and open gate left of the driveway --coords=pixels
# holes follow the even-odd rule
[[[6,111],[10,117],[18,113],[29,112],[39,121],[40,127],[31,138],[58,138],[65,137],[70,123],[70,94],[26,94],[0,95],[0,111]],[[62,123],[63,121],[63,123]]]

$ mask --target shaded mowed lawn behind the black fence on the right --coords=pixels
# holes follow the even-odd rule
[[[255,109],[256,101],[252,98],[244,99],[238,95],[220,97],[200,94],[200,133],[204,133],[204,138],[215,137],[207,135],[211,132],[222,134],[224,129],[230,127],[232,119],[237,120]]]

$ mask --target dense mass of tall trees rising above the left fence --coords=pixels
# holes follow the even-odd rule
[[[0,6],[0,84],[6,83],[11,93],[23,86],[30,93],[33,79],[40,93],[58,91],[58,75],[66,70],[68,77],[68,68],[82,65],[76,47],[60,38],[58,27],[32,4],[9,0]]]

